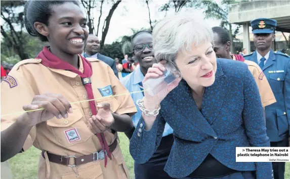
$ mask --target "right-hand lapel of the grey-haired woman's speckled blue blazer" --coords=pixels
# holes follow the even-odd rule
[[[218,68],[215,83],[204,89],[201,106],[201,113],[210,125],[212,125],[218,117],[226,94],[226,76],[224,75],[222,67],[218,61],[217,63]]]

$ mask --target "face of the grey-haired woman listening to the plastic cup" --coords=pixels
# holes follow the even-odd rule
[[[217,59],[211,42],[191,46],[186,54],[178,52],[176,65],[189,86],[208,87],[214,84]]]

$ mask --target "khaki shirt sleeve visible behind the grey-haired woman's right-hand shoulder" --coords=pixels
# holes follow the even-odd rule
[[[233,55],[233,60],[235,60],[235,56]],[[263,107],[268,106],[276,102],[275,96],[272,92],[272,89],[268,83],[267,78],[265,77],[262,69],[255,62],[252,61],[244,61],[248,66],[248,70],[253,74],[254,79],[258,85],[261,101]]]

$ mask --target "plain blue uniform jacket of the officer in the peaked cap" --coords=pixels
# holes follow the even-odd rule
[[[258,64],[256,51],[244,58]],[[277,101],[265,107],[267,135],[271,142],[282,141],[290,135],[290,57],[271,50],[262,70]]]

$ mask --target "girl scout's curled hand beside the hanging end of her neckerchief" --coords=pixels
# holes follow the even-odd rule
[[[98,104],[97,107],[99,109],[98,114],[93,115],[92,118],[89,119],[94,134],[108,130],[114,123],[114,117],[109,103],[101,103]]]

